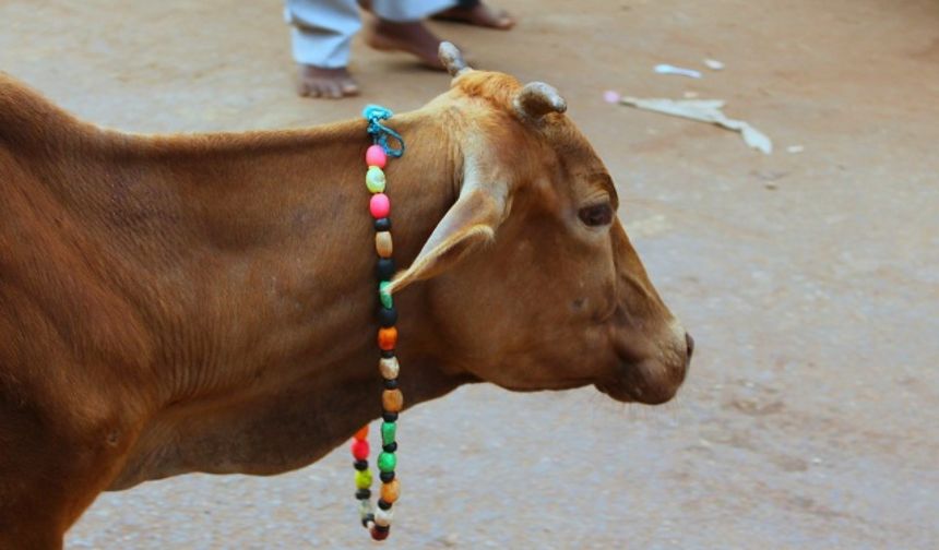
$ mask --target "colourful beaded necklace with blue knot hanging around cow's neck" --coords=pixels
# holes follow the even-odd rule
[[[365,162],[368,171],[365,184],[371,193],[369,200],[369,212],[375,218],[375,250],[378,253],[376,274],[378,275],[379,298],[379,330],[378,347],[381,357],[378,362],[379,372],[384,380],[384,391],[381,394],[382,422],[381,422],[381,450],[378,455],[379,478],[381,479],[381,493],[378,499],[378,507],[371,503],[371,471],[368,469],[368,425],[360,428],[352,441],[352,454],[355,457],[355,498],[359,501],[359,515],[361,525],[371,533],[375,540],[384,540],[391,530],[391,507],[401,494],[401,485],[394,475],[397,457],[395,432],[397,431],[397,414],[404,406],[404,396],[397,388],[399,363],[394,355],[397,344],[397,310],[388,291],[391,277],[394,275],[394,260],[392,259],[393,246],[391,240],[391,201],[384,194],[385,179],[382,168],[388,163],[388,157],[399,158],[404,154],[404,140],[394,130],[381,123],[382,120],[391,118],[393,112],[378,105],[368,105],[362,110],[362,117],[368,120],[368,133],[371,135],[372,145],[365,153]],[[399,147],[389,145],[389,138],[397,142]]]

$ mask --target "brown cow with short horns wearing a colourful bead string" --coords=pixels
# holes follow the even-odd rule
[[[409,404],[467,382],[669,399],[691,340],[544,84],[442,58],[391,125]],[[141,136],[0,75],[0,548],[104,490],[306,466],[379,412],[361,120]]]

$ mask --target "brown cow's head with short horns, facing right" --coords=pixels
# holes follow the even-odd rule
[[[692,340],[650,283],[617,218],[613,179],[547,84],[474,71],[431,104],[461,148],[459,199],[392,291],[425,283],[448,367],[510,390],[595,384],[657,404],[685,379]]]

